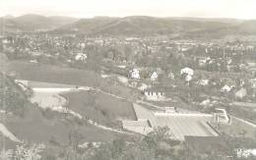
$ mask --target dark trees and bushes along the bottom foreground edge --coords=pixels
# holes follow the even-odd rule
[[[158,128],[145,136],[136,136],[127,140],[119,137],[111,142],[102,143],[96,147],[88,143],[84,149],[72,143],[68,147],[58,149],[53,153],[50,147],[44,144],[21,144],[14,150],[2,150],[0,160],[226,160],[227,157],[216,155],[215,151],[208,154],[187,154],[183,142],[171,140],[168,128]],[[74,136],[74,135],[71,135]],[[77,135],[75,135],[77,136]],[[246,140],[236,141],[233,137],[221,135],[231,148],[240,148],[246,145]],[[76,147],[74,147],[76,145]],[[211,147],[211,144],[206,145]],[[218,148],[215,148],[218,149]],[[230,160],[254,160],[255,157],[236,157],[233,151],[226,155]]]

